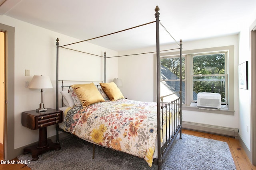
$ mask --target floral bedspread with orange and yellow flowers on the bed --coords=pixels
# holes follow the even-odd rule
[[[73,107],[64,118],[64,131],[144,158],[151,167],[157,136],[156,103],[120,99]]]

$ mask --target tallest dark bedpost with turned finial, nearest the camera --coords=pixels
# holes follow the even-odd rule
[[[158,156],[157,156],[157,164],[158,169],[161,169],[162,165],[162,158],[161,158],[161,119],[160,119],[160,41],[159,41],[159,16],[160,13],[158,12],[160,9],[158,6],[155,8],[155,17],[156,17],[156,88],[157,88],[157,150],[158,150]]]

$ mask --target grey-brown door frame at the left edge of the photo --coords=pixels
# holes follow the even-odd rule
[[[15,28],[0,23],[5,33],[4,56],[4,160],[14,156],[14,32]]]

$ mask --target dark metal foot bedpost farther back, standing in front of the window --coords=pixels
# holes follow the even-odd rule
[[[182,40],[180,39],[180,108],[182,108]],[[180,139],[182,138],[182,109],[180,109]]]

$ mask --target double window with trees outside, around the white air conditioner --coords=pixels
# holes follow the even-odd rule
[[[161,96],[168,96],[180,91],[180,57],[178,52],[161,53],[160,57]],[[227,106],[200,110],[196,107],[199,92],[219,93],[222,106]],[[234,46],[182,52],[182,103],[186,110],[234,115]]]

